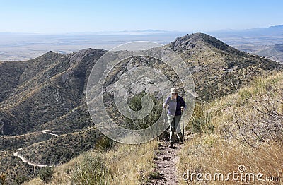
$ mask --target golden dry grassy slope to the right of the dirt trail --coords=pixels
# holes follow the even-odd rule
[[[258,78],[237,93],[215,100],[204,112],[214,133],[196,135],[185,143],[178,165],[180,173],[246,172],[281,176],[283,146],[283,73]],[[198,108],[197,108],[198,109]],[[181,179],[181,178],[180,178]],[[230,179],[233,181],[233,179]],[[183,181],[190,184],[192,181]],[[194,183],[197,180],[194,178]],[[211,181],[219,184],[219,181]],[[256,181],[256,183],[260,183]]]

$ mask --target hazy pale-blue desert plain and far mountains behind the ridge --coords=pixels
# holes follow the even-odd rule
[[[207,32],[223,42],[249,51],[256,46],[283,43],[283,26],[248,30],[219,30]],[[66,34],[0,33],[0,61],[34,59],[52,50],[63,54],[84,48],[112,49],[133,41],[150,41],[167,44],[175,37],[192,31],[125,30],[115,32],[69,32]],[[253,47],[253,48],[252,48]],[[282,59],[283,60],[283,59]]]

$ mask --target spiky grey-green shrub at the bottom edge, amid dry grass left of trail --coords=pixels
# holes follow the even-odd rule
[[[72,184],[109,184],[110,169],[100,155],[86,155],[71,172]]]

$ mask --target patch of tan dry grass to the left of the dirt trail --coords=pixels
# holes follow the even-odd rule
[[[117,143],[103,153],[93,150],[56,167],[49,184],[146,184],[157,148],[158,142],[150,141],[139,145]],[[36,178],[25,184],[44,183]]]

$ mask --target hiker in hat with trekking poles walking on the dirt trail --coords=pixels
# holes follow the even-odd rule
[[[183,135],[180,129],[180,119],[182,112],[186,109],[183,97],[178,96],[178,88],[171,88],[170,95],[163,104],[163,108],[168,108],[167,118],[169,123],[170,145],[174,148],[174,132],[176,131],[180,144],[183,144]]]

